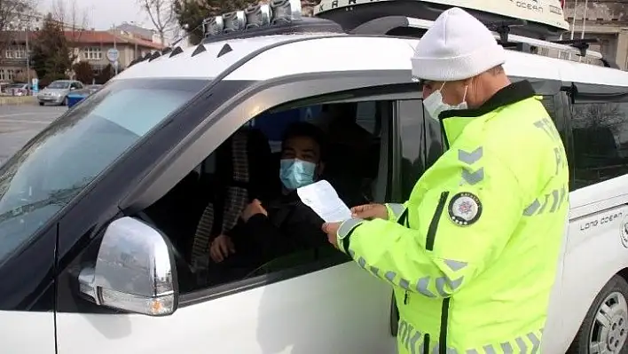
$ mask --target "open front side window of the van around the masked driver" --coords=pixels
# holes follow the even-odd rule
[[[326,127],[321,121],[328,117],[323,114],[321,105],[257,115],[208,155],[202,163],[203,176],[191,176],[198,172],[190,171],[190,175],[160,201],[145,209],[145,214],[161,232],[186,255],[186,262],[197,270],[206,270],[186,274],[188,268],[177,265],[177,272],[182,274],[179,286],[183,292],[284,271],[329,257],[335,257],[336,262],[347,261],[328,244],[325,233],[320,230],[322,220],[312,216],[310,208],[295,206],[297,200],[290,199],[286,190],[282,192],[279,161],[282,158],[316,160],[310,148],[302,154],[296,150],[282,153],[282,138],[287,128],[295,122],[310,122],[320,129],[326,142],[324,162],[318,165],[323,166],[318,178],[333,185],[349,206],[372,201],[369,198],[372,198],[373,186],[386,185],[388,180],[387,176],[378,175],[381,145],[386,144],[379,130],[382,116],[392,112],[392,102],[359,102],[349,106],[356,114],[348,120],[353,126]],[[347,112],[347,108],[344,106],[343,112]],[[329,131],[325,127],[341,131]],[[341,144],[337,144],[335,138],[343,138]],[[244,147],[246,150],[242,150]],[[244,176],[248,180],[246,185],[237,180]],[[266,208],[269,227],[249,228],[239,220],[241,211],[254,198],[262,201]],[[174,206],[173,201],[186,202]],[[281,242],[274,243],[276,235],[264,233],[271,231],[292,241],[285,247]],[[216,264],[210,257],[210,245],[220,234],[231,235],[236,253]],[[258,245],[256,241],[246,244],[247,240],[271,241]],[[256,254],[260,249],[263,252]]]

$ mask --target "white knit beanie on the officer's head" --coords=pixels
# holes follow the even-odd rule
[[[412,77],[431,81],[464,80],[506,61],[506,52],[489,28],[453,7],[438,16],[417,44]]]

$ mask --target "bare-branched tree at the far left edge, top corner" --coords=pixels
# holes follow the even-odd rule
[[[35,0],[0,0],[0,52],[35,20]],[[23,38],[22,38],[23,39]]]

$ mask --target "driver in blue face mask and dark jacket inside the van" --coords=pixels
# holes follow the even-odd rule
[[[324,140],[324,133],[307,122],[287,128],[281,146],[281,195],[267,205],[255,199],[242,211],[239,224],[212,241],[209,254],[218,274],[211,278],[239,279],[272,259],[327,245],[323,219],[296,193],[322,175]]]

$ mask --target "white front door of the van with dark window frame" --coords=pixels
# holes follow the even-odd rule
[[[273,112],[312,112],[313,109],[307,108],[340,104],[367,104],[356,108],[356,123],[360,111],[362,128],[373,137],[379,137],[377,146],[366,149],[372,153],[372,162],[378,162],[369,164],[374,165],[376,173],[366,176],[371,169],[359,172],[372,183],[354,185],[360,186],[373,201],[390,200],[389,166],[394,151],[392,117],[396,99],[399,99],[395,85],[399,77],[407,80],[407,75],[382,77],[381,73],[365,72],[344,77],[333,73],[294,77],[270,88],[260,84],[259,90],[254,86],[250,95],[241,98],[238,104],[210,116],[208,120],[213,120],[212,125],[200,127],[204,131],[192,137],[191,143],[177,147],[179,150],[170,154],[172,161],[161,161],[164,168],[155,170],[154,176],[145,177],[146,183],[137,185],[137,193],[131,193],[127,201],[121,202],[122,214],[142,218],[136,213],[137,205],[152,205],[169,193],[177,181],[183,180],[208,158],[208,154],[216,151],[229,134],[241,127],[262,127],[263,124],[257,122],[259,112],[272,118]],[[405,92],[408,88],[398,90]],[[403,95],[416,97],[417,92]],[[369,114],[374,114],[373,124],[365,123]],[[224,164],[216,161],[216,166]],[[200,193],[190,194],[186,200],[192,201],[197,194]],[[161,228],[162,221],[153,220],[155,228]],[[102,235],[95,236],[94,240],[99,237]],[[94,241],[62,271],[60,279],[70,284],[80,267],[93,263],[97,256],[98,242]],[[389,284],[360,269],[337,251],[330,252],[329,248],[313,249],[279,261],[264,264],[245,279],[209,286],[179,284],[177,311],[166,317],[106,309],[83,300],[77,295],[76,287],[72,290],[74,295],[67,292],[71,287],[63,287],[59,302],[67,303],[67,296],[72,296],[75,305],[67,307],[70,311],[60,311],[57,315],[59,354],[83,352],[88,343],[98,343],[90,345],[94,354],[396,352],[396,338],[389,326],[392,294]],[[184,277],[179,279],[184,281]]]

